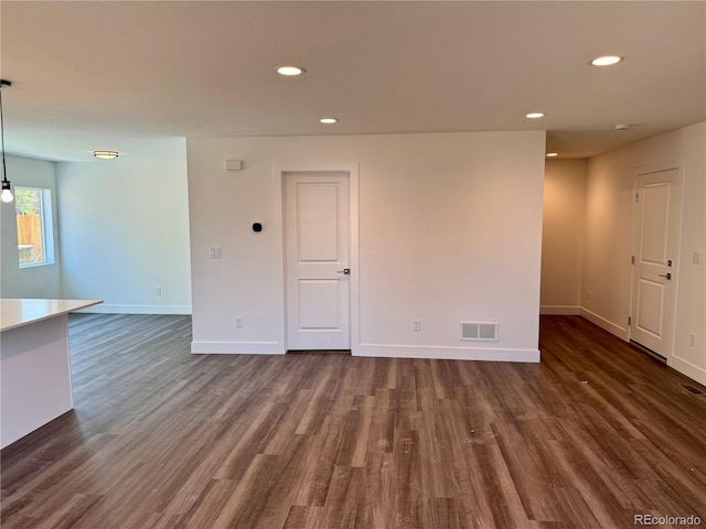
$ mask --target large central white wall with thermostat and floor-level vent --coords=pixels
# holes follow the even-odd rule
[[[544,131],[188,140],[195,353],[284,353],[276,163],[359,164],[354,354],[538,360]],[[240,172],[224,161],[244,160]],[[263,223],[253,234],[254,222]],[[208,248],[221,247],[222,259]],[[234,325],[244,316],[243,328]],[[421,320],[424,331],[411,332]],[[500,341],[460,342],[460,321]]]

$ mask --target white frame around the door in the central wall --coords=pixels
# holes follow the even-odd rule
[[[349,298],[349,320],[351,352],[356,353],[360,344],[360,266],[359,266],[359,164],[357,163],[276,163],[272,168],[272,188],[275,190],[275,201],[277,213],[277,228],[279,230],[279,251],[281,253],[281,281],[282,281],[282,328],[281,343],[284,352],[289,349],[287,343],[287,251],[285,231],[285,177],[288,173],[347,173],[349,175],[349,201],[350,201],[350,266],[351,276],[350,298]]]

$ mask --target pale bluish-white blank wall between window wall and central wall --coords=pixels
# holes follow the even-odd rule
[[[104,300],[93,312],[191,313],[184,161],[60,162],[57,180],[63,296]]]

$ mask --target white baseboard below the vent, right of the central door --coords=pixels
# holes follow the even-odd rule
[[[436,347],[418,345],[360,344],[353,356],[381,358],[430,358],[439,360],[484,360],[538,363],[539,349],[492,349],[482,347]]]

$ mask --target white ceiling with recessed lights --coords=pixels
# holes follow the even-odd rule
[[[0,23],[7,150],[50,160],[183,158],[184,137],[530,129],[579,158],[706,120],[704,1],[2,0]],[[625,60],[588,65],[608,53]],[[281,78],[285,63],[307,74]]]

